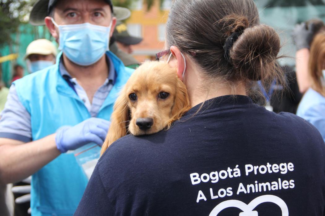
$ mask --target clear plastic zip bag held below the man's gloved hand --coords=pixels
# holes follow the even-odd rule
[[[83,169],[88,180],[94,172],[95,166],[100,157],[101,147],[95,143],[89,143],[73,151],[77,163]]]

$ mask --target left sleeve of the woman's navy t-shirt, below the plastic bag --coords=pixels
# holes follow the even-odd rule
[[[114,215],[110,201],[97,165],[74,215]]]

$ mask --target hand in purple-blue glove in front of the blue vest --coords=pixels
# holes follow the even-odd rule
[[[55,135],[57,148],[61,153],[65,153],[90,142],[101,146],[109,127],[110,121],[98,118],[86,119],[73,127],[63,126],[57,130]]]

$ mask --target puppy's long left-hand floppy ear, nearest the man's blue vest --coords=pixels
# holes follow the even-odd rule
[[[110,119],[110,129],[102,145],[100,155],[102,155],[113,142],[125,136],[127,133],[126,127],[129,121],[129,108],[123,93],[116,99],[114,111]]]

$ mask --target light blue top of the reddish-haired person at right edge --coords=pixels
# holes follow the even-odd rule
[[[324,104],[309,108],[304,115],[304,119],[314,125],[325,141],[325,109]]]

